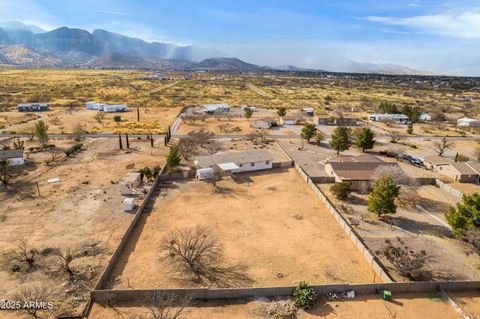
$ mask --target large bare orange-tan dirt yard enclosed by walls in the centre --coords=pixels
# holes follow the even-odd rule
[[[241,278],[217,286],[284,286],[371,282],[374,273],[336,220],[294,169],[227,178],[215,193],[205,182],[161,190],[114,269],[108,288],[193,287],[163,264],[159,244],[175,228],[210,226],[224,246],[225,266],[243,265]]]

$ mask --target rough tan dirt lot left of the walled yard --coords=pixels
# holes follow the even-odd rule
[[[49,143],[61,152],[74,142]],[[133,217],[121,208],[124,197],[117,182],[128,171],[164,164],[165,150],[151,148],[147,140],[131,139],[131,149],[123,151],[118,149],[116,139],[88,139],[83,143],[85,150],[57,165],[43,164],[44,159],[50,158],[46,152],[30,154],[29,173],[15,184],[22,187],[16,192],[0,191],[0,299],[11,297],[22,288],[49,284],[56,290],[52,296],[58,301],[56,311],[81,310],[89,289]],[[127,165],[131,167],[127,169]],[[48,184],[47,180],[52,178],[61,181]],[[43,251],[46,257],[37,255],[39,269],[14,273],[13,264],[4,253],[15,249],[22,240]],[[58,257],[45,249],[79,246],[91,256],[73,261],[72,268],[80,271],[78,277],[82,279],[69,284],[68,276],[56,271]]]

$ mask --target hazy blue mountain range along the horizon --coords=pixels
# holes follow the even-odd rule
[[[106,30],[88,32],[61,27],[45,31],[20,22],[0,22],[0,64],[28,67],[62,66],[144,69],[213,69],[240,72],[265,70],[323,71],[292,65],[264,67],[241,61],[216,49],[146,42]],[[394,64],[352,62],[349,72],[425,74]]]

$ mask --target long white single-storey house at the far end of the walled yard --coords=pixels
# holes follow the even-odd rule
[[[265,150],[217,153],[195,157],[197,169],[218,168],[223,172],[240,173],[272,168],[273,156]]]

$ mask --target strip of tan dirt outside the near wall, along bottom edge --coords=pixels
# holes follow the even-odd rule
[[[469,294],[470,295],[470,294]],[[356,318],[356,319],[412,319],[435,318],[453,319],[462,316],[441,296],[436,293],[394,294],[390,302],[378,295],[362,295],[354,300],[326,301],[321,299],[317,306],[308,310],[299,310],[298,319],[314,318]],[[468,297],[470,298],[470,297]],[[262,310],[268,303],[260,300],[212,300],[199,301],[196,307],[186,309],[185,318],[195,319],[267,319]],[[476,305],[474,308],[478,309]],[[133,318],[133,314],[147,314],[141,307],[103,308],[95,304],[89,316],[91,319]],[[469,312],[474,313],[474,312]],[[478,317],[472,317],[473,319]]]

